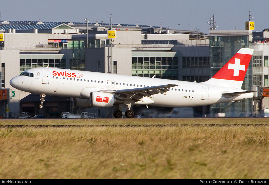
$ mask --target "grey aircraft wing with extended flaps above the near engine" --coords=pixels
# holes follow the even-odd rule
[[[132,99],[135,102],[142,101],[143,97],[151,97],[153,94],[164,94],[167,95],[165,92],[169,91],[168,88],[178,86],[176,84],[167,84],[162,86],[151,86],[151,87],[142,87],[142,88],[133,88],[133,89],[123,89],[123,90],[116,90],[116,91],[102,91],[107,93],[113,93],[118,95],[119,99]]]

